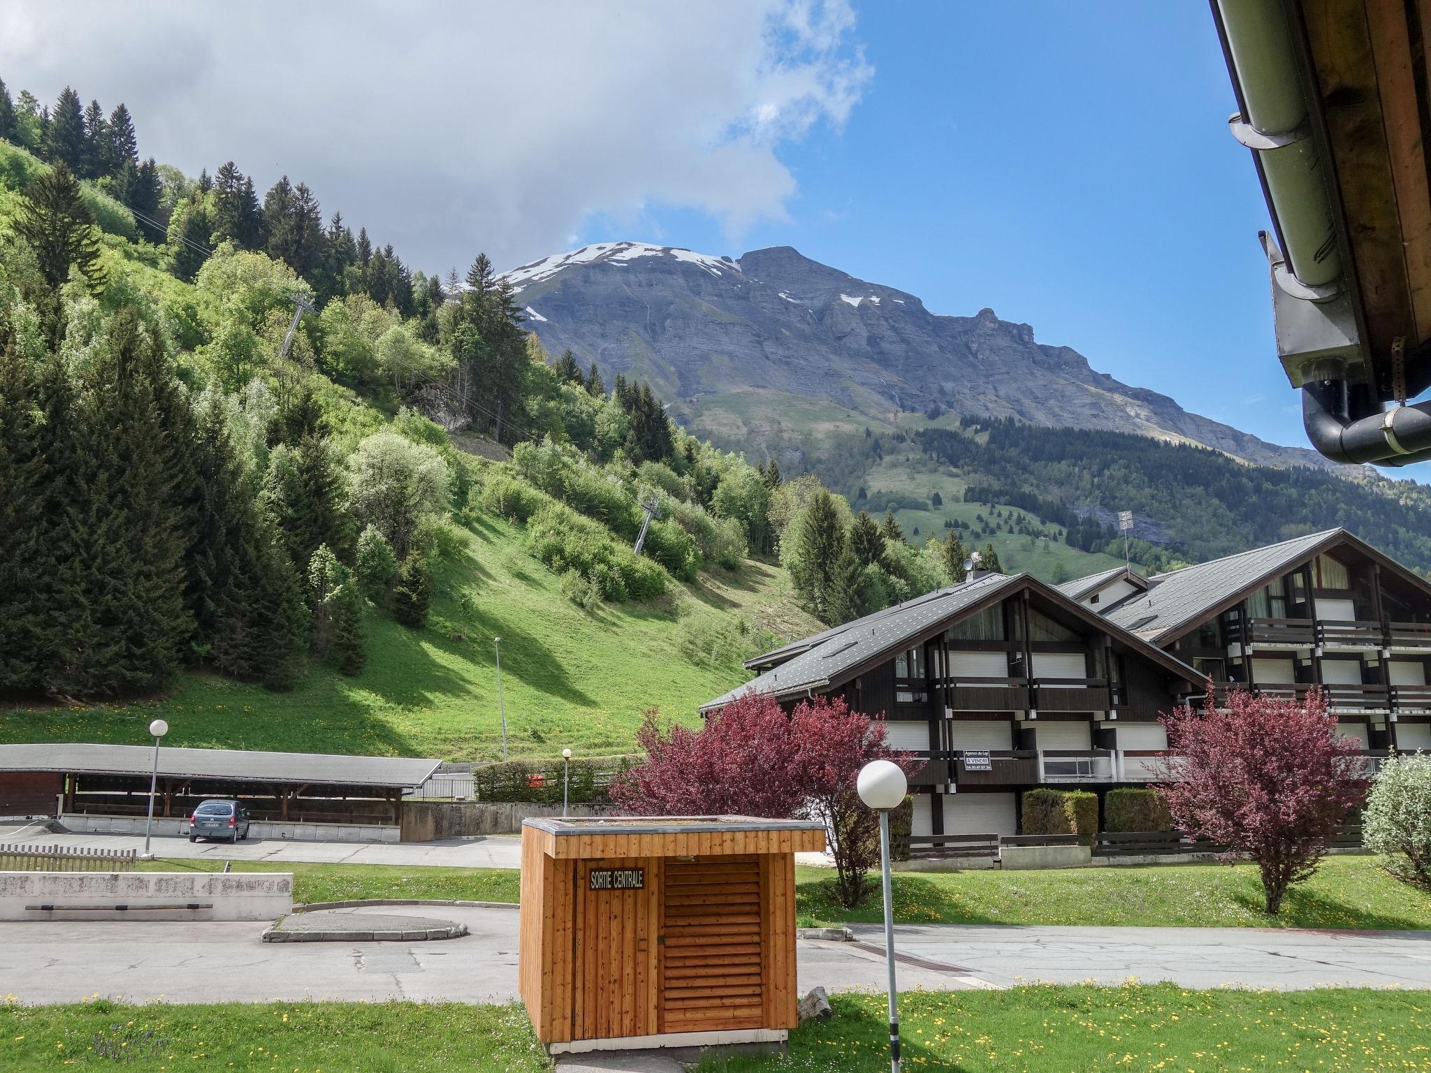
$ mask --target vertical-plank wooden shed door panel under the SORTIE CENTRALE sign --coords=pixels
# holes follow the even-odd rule
[[[577,867],[574,1040],[655,1033],[660,893],[660,858]]]

